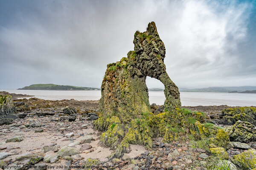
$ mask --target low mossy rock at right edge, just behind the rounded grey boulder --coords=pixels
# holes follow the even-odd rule
[[[224,125],[234,125],[239,120],[256,125],[256,108],[253,107],[224,109],[222,116],[221,123]]]

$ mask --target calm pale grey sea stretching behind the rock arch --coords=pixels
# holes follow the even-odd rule
[[[43,90],[0,90],[16,94],[34,95],[40,99],[61,100],[99,100],[101,91],[43,91]],[[204,93],[204,92],[180,92],[180,100],[183,106],[198,105],[229,105],[229,106],[255,106],[256,94],[236,93]],[[150,104],[163,105],[165,96],[163,91],[149,91]]]

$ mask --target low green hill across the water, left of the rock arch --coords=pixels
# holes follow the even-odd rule
[[[100,90],[100,88],[77,87],[73,85],[35,84],[18,90]]]

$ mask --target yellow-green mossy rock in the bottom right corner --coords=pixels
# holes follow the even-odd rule
[[[232,162],[242,170],[251,170],[256,168],[256,150],[249,149],[245,150],[243,153],[234,155]]]

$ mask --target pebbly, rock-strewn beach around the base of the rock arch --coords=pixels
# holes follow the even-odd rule
[[[225,156],[220,161],[214,156],[214,149],[219,147],[209,145],[207,140],[198,142],[192,136],[187,136],[185,140],[167,143],[157,137],[154,138],[152,149],[131,144],[122,158],[109,160],[108,156],[114,150],[102,145],[102,132],[93,128],[93,120],[99,114],[99,101],[30,98],[14,100],[13,103],[15,113],[7,114],[12,122],[0,128],[0,168],[4,170],[206,170],[221,167],[222,164],[229,164],[232,167],[230,170],[239,170],[238,165],[231,162],[234,156],[253,152],[253,148],[256,148],[255,140],[247,144],[231,142],[232,146],[227,148],[227,152],[220,152],[223,154],[219,156]],[[221,110],[230,107],[185,108],[204,111],[206,121],[217,122],[217,119],[221,119]],[[151,111],[155,114],[162,110],[162,106],[151,105]]]

